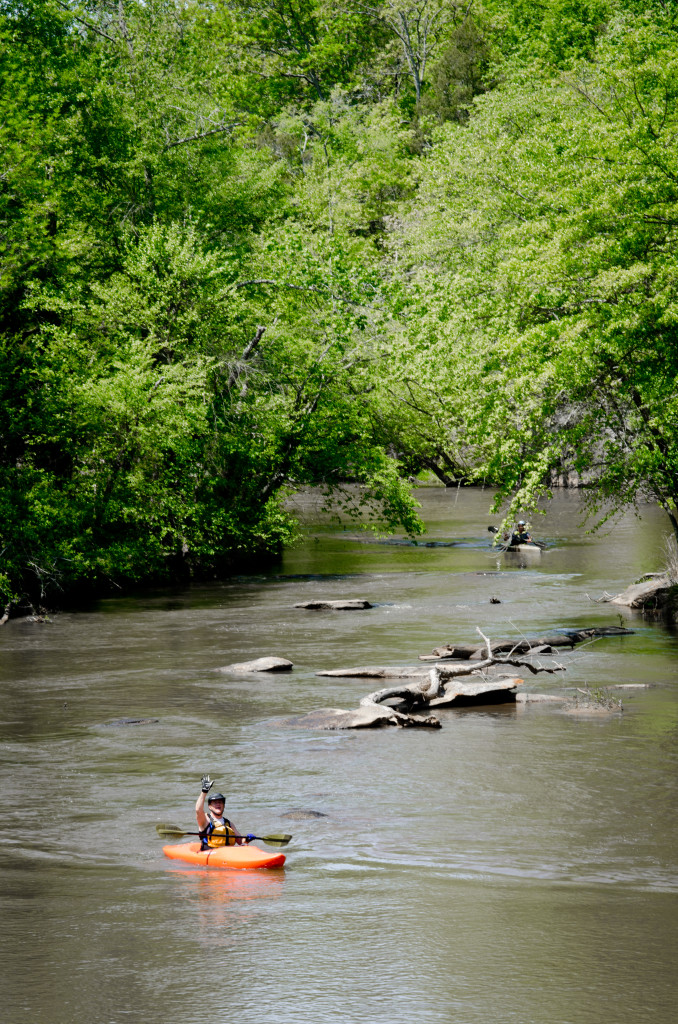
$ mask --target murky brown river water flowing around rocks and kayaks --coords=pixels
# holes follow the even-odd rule
[[[417,546],[351,532],[309,494],[303,542],[267,572],[0,631],[3,1024],[674,1024],[674,632],[622,611],[633,635],[524,684],[652,684],[619,691],[620,714],[278,724],[379,685],[322,669],[413,664],[476,626],[617,626],[595,599],[661,563],[651,508],[590,536],[558,495],[535,526],[551,548],[525,561],[489,549],[488,492],[419,496]],[[294,607],[321,597],[376,607]],[[295,669],[214,671],[262,654]],[[206,771],[243,831],[294,835],[284,870],[164,858],[155,825],[193,827]]]

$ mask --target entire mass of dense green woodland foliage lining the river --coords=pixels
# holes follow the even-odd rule
[[[222,572],[345,481],[678,534],[661,0],[4,0],[3,603]]]

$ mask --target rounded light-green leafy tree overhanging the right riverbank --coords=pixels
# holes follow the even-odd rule
[[[482,97],[429,162],[410,344],[514,507],[574,466],[593,509],[650,498],[678,529],[677,58],[665,27],[621,23],[595,66]]]

